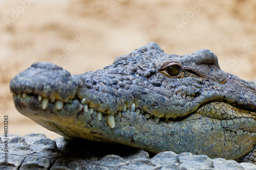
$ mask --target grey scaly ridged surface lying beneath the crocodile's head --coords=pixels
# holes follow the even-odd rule
[[[8,164],[1,159],[0,169],[256,169],[252,163],[210,159],[191,153],[178,155],[168,151],[150,158],[147,152],[124,145],[69,141],[63,137],[51,140],[39,133],[24,137],[10,135],[11,142],[23,145],[29,152],[13,154],[15,148],[10,147]],[[1,158],[4,154],[1,150]]]

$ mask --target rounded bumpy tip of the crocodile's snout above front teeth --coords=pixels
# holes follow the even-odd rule
[[[78,81],[70,73],[51,63],[36,62],[28,69],[15,76],[10,83],[10,90],[15,95],[38,95],[39,100],[50,99],[68,102],[73,99],[78,89]]]

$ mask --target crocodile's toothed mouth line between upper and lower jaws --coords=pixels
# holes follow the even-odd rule
[[[55,100],[55,99],[48,99],[48,98],[42,98],[41,95],[38,95],[38,94],[34,94],[34,93],[22,93],[22,94],[16,94],[15,92],[13,92],[13,100],[14,98],[17,98],[18,100],[20,100],[21,98],[25,99],[27,98],[28,96],[34,96],[34,98],[37,98],[38,102],[41,103],[41,108],[42,110],[46,110],[49,103],[52,103],[55,105],[55,108],[56,110],[62,110],[63,106],[65,104],[71,104],[73,100],[75,100],[76,98],[74,99],[71,99],[69,100],[68,103],[64,103],[60,100]],[[78,100],[78,99],[76,99]],[[136,108],[135,107],[135,103],[132,104],[131,107],[128,107],[126,104],[123,105],[122,109],[121,110],[118,110],[115,114],[106,114],[105,112],[100,112],[98,111],[96,108],[93,108],[93,107],[89,107],[88,104],[85,103],[86,99],[82,99],[82,100],[78,100],[80,102],[80,104],[83,106],[83,111],[84,113],[87,113],[87,114],[93,114],[93,112],[97,112],[97,119],[99,121],[102,120],[102,116],[105,116],[105,119],[106,119],[106,122],[108,123],[109,127],[111,129],[114,129],[115,128],[115,115],[117,115],[119,118],[122,117],[122,112],[126,112],[128,114],[130,114],[131,111],[135,112],[137,115],[141,114],[141,115],[144,115],[144,117],[146,118],[146,120],[148,120],[148,122],[150,122],[151,124],[160,124],[160,123],[170,123],[170,122],[177,122],[177,121],[182,121],[182,120],[185,120],[187,119],[187,117],[189,117],[190,115],[194,114],[194,113],[198,113],[202,116],[206,116],[206,117],[211,117],[211,118],[215,118],[215,119],[233,119],[233,118],[236,118],[236,117],[239,117],[238,115],[241,113],[241,116],[243,117],[250,117],[250,118],[253,118],[253,119],[256,119],[256,113],[255,112],[250,112],[250,111],[246,111],[246,110],[242,110],[242,109],[238,109],[232,105],[229,105],[227,103],[224,103],[224,102],[210,102],[210,103],[204,103],[202,104],[199,108],[197,108],[196,111],[194,112],[191,112],[185,116],[182,116],[182,117],[176,117],[176,118],[165,118],[165,117],[157,117],[156,115],[153,115],[151,113],[148,113],[148,112],[145,112],[144,110],[142,109],[139,109],[139,108]],[[230,107],[232,110],[238,110],[238,113],[231,113],[230,110],[226,110],[224,111],[226,113],[226,115],[228,116],[223,116],[223,115],[220,115],[220,113],[218,112],[214,112],[212,113],[212,110],[215,109],[215,106],[210,106],[211,103],[222,103],[222,104],[219,104],[223,107]],[[205,109],[204,107],[206,105],[209,105],[207,106],[207,108]],[[211,108],[212,110],[207,110]],[[203,111],[203,110],[207,110],[206,112]],[[222,109],[223,110],[223,109]]]

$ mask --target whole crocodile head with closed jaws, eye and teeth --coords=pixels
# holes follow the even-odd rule
[[[39,62],[10,89],[20,113],[67,139],[211,158],[255,152],[255,84],[222,71],[209,50],[168,55],[152,42],[81,75]]]

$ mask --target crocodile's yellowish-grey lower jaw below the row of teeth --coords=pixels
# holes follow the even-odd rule
[[[206,107],[204,105],[182,120],[169,119],[166,122],[161,118],[155,122],[152,117],[146,118],[147,113],[126,108],[126,111],[113,115],[115,127],[111,127],[108,122],[110,115],[93,108],[85,109],[87,106],[78,100],[63,105],[61,110],[51,102],[47,109],[42,109],[36,95],[26,95],[25,98],[13,95],[13,100],[20,113],[67,139],[117,142],[154,153],[191,152],[206,154],[211,158],[237,159],[252,148],[256,138],[253,112],[240,117],[230,115],[229,118],[217,119],[202,113]],[[214,105],[214,102],[211,104]]]

